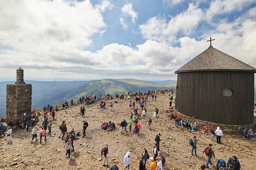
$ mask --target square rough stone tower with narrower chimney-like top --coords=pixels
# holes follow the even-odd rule
[[[19,67],[15,84],[6,85],[6,119],[16,125],[20,119],[31,119],[32,85],[25,84],[23,73]]]

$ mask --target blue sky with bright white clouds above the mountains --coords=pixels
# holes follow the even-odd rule
[[[0,81],[176,79],[209,45],[256,66],[256,0],[3,0]]]

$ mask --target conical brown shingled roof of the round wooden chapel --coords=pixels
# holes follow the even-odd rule
[[[174,73],[191,72],[191,71],[250,71],[256,73],[256,68],[246,64],[236,58],[223,53],[211,45],[202,53],[184,66],[180,67]]]

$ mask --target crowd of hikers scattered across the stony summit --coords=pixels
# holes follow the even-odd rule
[[[177,112],[174,111],[174,107],[173,107],[173,103],[175,103],[175,98],[173,97],[173,93],[174,90],[172,89],[161,89],[161,90],[150,90],[148,92],[138,92],[138,93],[132,93],[128,92],[127,94],[121,93],[120,95],[116,94],[116,102],[117,103],[117,98],[120,99],[124,99],[129,102],[129,109],[132,110],[131,114],[129,117],[124,118],[121,123],[120,123],[120,133],[121,135],[123,135],[124,133],[131,133],[131,134],[136,134],[137,136],[139,136],[139,132],[140,132],[140,128],[141,128],[141,124],[140,121],[142,121],[143,119],[147,119],[146,121],[148,122],[148,129],[151,130],[151,124],[152,124],[152,118],[149,116],[148,118],[146,118],[146,114],[147,114],[147,102],[148,102],[148,97],[152,98],[152,101],[156,101],[157,95],[158,94],[164,94],[164,93],[169,93],[168,98],[170,100],[169,103],[169,109],[170,109],[170,115],[168,117],[170,117],[170,119],[174,119],[175,122],[175,127],[179,128],[179,126],[181,128],[187,128],[188,131],[190,132],[194,132],[198,129],[198,124],[197,122],[193,122],[190,119],[183,119],[181,117],[179,117],[177,115]],[[105,97],[106,100],[108,99],[113,99],[113,97],[109,94],[106,94]],[[100,112],[104,112],[104,110],[106,109],[106,102],[105,101],[101,101],[102,96],[99,96],[98,98],[96,96],[82,96],[78,99],[77,103],[80,103],[80,112],[82,114],[82,117],[85,114],[85,108],[82,107],[82,104],[93,104],[93,103],[99,103],[99,107],[100,107]],[[135,100],[134,102],[132,100]],[[172,102],[174,101],[174,102]],[[71,106],[74,105],[74,101],[73,99],[70,101]],[[137,107],[135,107],[135,103],[139,104],[140,109],[138,109]],[[64,107],[68,106],[68,102],[63,103]],[[128,106],[127,106],[128,107]],[[110,102],[109,105],[110,111],[112,111],[113,109],[113,104]],[[33,144],[34,142],[38,141],[37,138],[37,134],[39,134],[40,137],[40,144],[42,144],[42,139],[44,139],[44,141],[47,141],[46,139],[46,134],[47,135],[51,135],[51,129],[52,129],[52,123],[49,123],[48,120],[50,117],[52,117],[52,120],[54,120],[55,117],[55,112],[58,111],[58,107],[57,105],[55,106],[55,109],[52,107],[52,105],[50,105],[49,103],[47,103],[46,106],[43,107],[44,110],[44,115],[43,115],[43,122],[42,122],[42,126],[39,125],[39,118],[38,115],[36,115],[35,113],[35,109],[32,108],[31,109],[31,113],[32,113],[32,122],[31,123],[27,123],[24,124],[23,119],[21,119],[19,121],[19,124],[21,126],[21,128],[25,128],[26,127],[26,132],[28,132],[29,127],[33,127],[32,131],[31,131],[31,144]],[[153,118],[158,118],[159,114],[159,110],[157,109],[157,107],[154,109],[154,113],[153,113]],[[142,115],[142,117],[141,117]],[[128,121],[126,121],[128,120]],[[10,123],[10,122],[9,122]],[[9,126],[10,125],[10,126]],[[8,143],[11,142],[12,140],[12,128],[11,128],[11,124],[9,124],[7,127],[7,137],[8,137]],[[3,124],[0,123],[0,134],[4,134],[4,130],[3,130]],[[86,129],[88,127],[88,122],[86,122],[85,120],[83,121],[83,136],[82,138],[86,137]],[[128,127],[129,126],[129,130]],[[119,127],[119,124],[118,124]],[[70,128],[70,127],[69,127]],[[61,138],[61,140],[65,141],[65,157],[67,157],[69,160],[71,160],[71,156],[70,156],[70,152],[74,152],[74,140],[80,136],[80,132],[75,133],[74,128],[70,128],[68,131],[67,128],[67,124],[65,123],[65,121],[63,121],[60,126],[60,135],[59,138]],[[103,122],[101,124],[101,129],[103,131],[115,131],[116,130],[116,124],[113,121],[106,121]],[[48,133],[47,133],[48,130]],[[220,129],[220,127],[217,127],[217,129],[214,126],[210,126],[209,128],[207,127],[207,125],[204,125],[204,133],[208,134],[208,132],[210,132],[210,139],[213,141],[214,136],[216,136],[216,143],[220,144],[221,143],[221,137],[223,136],[223,133]],[[4,134],[5,135],[5,134]],[[251,138],[255,138],[255,135],[252,131],[252,129],[243,129],[241,130],[241,135],[244,136],[247,139],[251,139]],[[140,170],[146,170],[146,169],[151,169],[151,170],[162,170],[163,169],[163,165],[165,163],[165,157],[163,154],[163,151],[160,150],[160,142],[161,142],[161,133],[156,134],[155,137],[155,143],[152,147],[152,155],[151,152],[148,152],[148,150],[146,148],[144,148],[142,150],[141,153],[141,159],[140,159],[140,163],[139,163],[139,169]],[[34,141],[35,140],[35,141]],[[191,154],[193,156],[197,157],[197,153],[196,153],[196,148],[197,148],[197,138],[196,136],[194,136],[192,139],[190,139],[189,144],[192,146],[191,149]],[[205,165],[202,165],[200,167],[200,170],[204,170],[205,168],[209,167],[209,164],[212,164],[212,157],[215,158],[215,154],[213,152],[212,149],[212,144],[209,144],[207,147],[205,147],[203,153],[205,154],[206,158],[206,163]],[[72,150],[71,150],[72,149]],[[194,155],[195,153],[195,155]],[[103,166],[109,167],[108,166],[108,145],[105,145],[102,150],[101,150],[101,155],[103,156]],[[124,156],[124,169],[129,170],[130,168],[130,155],[131,152],[127,152]],[[150,167],[146,167],[146,162],[149,161],[150,162]],[[110,167],[109,167],[110,168]],[[232,156],[230,159],[228,159],[228,162],[226,164],[224,159],[218,159],[216,161],[216,169],[217,170],[222,170],[222,169],[228,169],[228,170],[240,170],[240,163],[238,161],[238,157],[237,156]],[[118,170],[118,166],[116,163],[113,163],[113,166],[111,166],[110,170]]]

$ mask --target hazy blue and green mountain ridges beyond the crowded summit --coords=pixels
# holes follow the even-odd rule
[[[0,82],[0,116],[6,115],[6,84],[15,81]],[[32,84],[32,107],[42,108],[51,103],[58,105],[65,101],[76,102],[80,96],[105,95],[121,93],[123,91],[147,91],[152,89],[175,89],[176,80],[166,81],[141,81],[135,79],[102,79],[91,81],[30,81]]]

